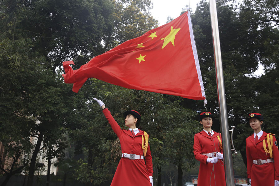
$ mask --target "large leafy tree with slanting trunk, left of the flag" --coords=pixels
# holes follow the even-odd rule
[[[28,50],[21,50],[17,53],[19,55],[25,54],[29,57],[24,62],[29,67],[28,69],[32,69],[32,71],[18,73],[17,76],[13,76],[12,74],[15,73],[14,69],[12,69],[13,66],[7,65],[7,63],[3,68],[3,72],[7,73],[2,75],[5,75],[5,78],[10,82],[1,85],[4,91],[11,91],[11,100],[19,100],[18,102],[20,102],[17,107],[11,107],[11,103],[15,101],[3,101],[4,108],[7,110],[5,113],[12,113],[12,117],[17,117],[18,113],[22,117],[33,116],[33,120],[28,123],[28,127],[22,128],[26,130],[24,131],[25,133],[38,138],[30,161],[28,185],[32,184],[35,160],[41,150],[41,143],[47,144],[47,141],[50,140],[48,138],[54,138],[51,139],[53,142],[55,139],[57,142],[58,139],[63,138],[63,131],[59,131],[60,127],[63,127],[66,123],[71,123],[67,122],[68,120],[64,117],[67,113],[71,113],[74,108],[79,108],[75,103],[80,101],[78,99],[82,99],[82,95],[74,95],[71,91],[67,92],[67,94],[62,91],[63,87],[69,86],[62,83],[60,74],[55,73],[56,68],[61,65],[62,60],[70,55],[71,57],[77,57],[78,53],[88,55],[89,50],[91,54],[96,55],[98,53],[96,49],[103,52],[100,35],[103,34],[104,30],[107,30],[108,34],[110,32],[109,21],[105,21],[110,15],[107,12],[112,8],[112,4],[109,1],[96,1],[96,3],[83,1],[76,4],[74,2],[15,2],[8,0],[1,2],[3,18],[1,20],[1,33],[9,41],[22,42],[27,40],[29,42],[30,53],[25,53]],[[80,8],[75,9],[73,5]],[[76,12],[76,15],[67,14],[69,10]],[[83,11],[81,12],[80,10]],[[89,14],[86,14],[88,15],[87,17],[83,15],[86,12]],[[96,13],[95,17],[99,17],[99,19],[95,19],[92,16],[93,13]],[[75,16],[79,16],[79,19],[77,20]],[[94,21],[100,21],[100,23],[97,24],[99,26],[92,33]],[[89,42],[88,45],[83,45],[85,42]],[[79,45],[76,43],[79,43]],[[61,46],[63,46],[62,49]],[[23,64],[19,59],[17,61],[13,58],[10,59],[13,63],[17,62],[17,66]],[[79,59],[82,60],[84,58],[80,57]],[[23,79],[24,82],[21,82],[20,76],[24,75],[28,77]],[[3,83],[6,82],[8,81]],[[11,82],[18,88],[17,92],[10,89],[9,84]],[[69,88],[67,89],[70,90]],[[17,95],[13,95],[15,93]],[[3,100],[8,100],[9,97],[4,95],[2,98]],[[13,122],[12,118],[2,121],[5,121],[6,125],[10,125]],[[57,135],[48,135],[50,131],[52,133],[55,132]]]

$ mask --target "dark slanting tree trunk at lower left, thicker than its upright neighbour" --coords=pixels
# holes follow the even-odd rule
[[[29,166],[29,174],[28,174],[28,179],[27,179],[27,186],[32,186],[33,185],[36,158],[37,158],[37,155],[38,155],[39,150],[40,150],[43,135],[44,135],[43,133],[39,134],[36,147],[33,151],[32,157],[31,157],[31,162],[30,162],[30,166]]]

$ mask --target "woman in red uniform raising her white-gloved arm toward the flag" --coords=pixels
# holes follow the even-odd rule
[[[96,98],[94,100],[103,108],[103,113],[121,144],[122,158],[111,186],[153,186],[153,165],[148,134],[136,128],[141,119],[140,114],[135,110],[126,111],[124,113],[125,125],[129,127],[129,130],[122,130],[109,110],[105,108],[104,102]]]

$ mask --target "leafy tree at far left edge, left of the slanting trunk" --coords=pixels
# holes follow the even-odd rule
[[[33,70],[27,55],[30,47],[29,40],[22,38],[11,41],[5,38],[5,34],[1,35],[0,141],[4,146],[5,158],[1,158],[0,169],[7,175],[3,186],[12,175],[21,173],[28,166],[28,155],[33,148],[30,133],[24,129],[34,122],[34,118],[24,114],[25,92],[22,91]]]

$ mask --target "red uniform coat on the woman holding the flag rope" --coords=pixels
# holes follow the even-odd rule
[[[224,163],[220,160],[215,164],[207,163],[206,159],[208,156],[202,155],[216,151],[223,153],[223,150],[220,148],[219,139],[217,138],[218,135],[221,139],[221,135],[217,132],[214,132],[212,137],[206,134],[205,131],[201,131],[194,136],[194,155],[195,158],[201,162],[198,176],[198,186],[226,185]]]

